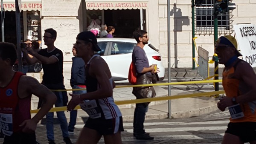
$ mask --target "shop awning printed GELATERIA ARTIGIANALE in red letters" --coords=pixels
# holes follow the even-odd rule
[[[85,0],[86,9],[147,9],[148,0]]]

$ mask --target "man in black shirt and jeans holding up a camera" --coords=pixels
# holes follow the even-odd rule
[[[64,77],[63,77],[63,54],[60,49],[54,46],[54,42],[57,37],[57,32],[54,29],[44,30],[44,44],[47,46],[46,49],[41,49],[38,53],[35,52],[31,47],[23,49],[25,58],[29,64],[41,61],[44,75],[42,84],[47,86],[49,89],[65,89]],[[28,53],[33,57],[30,58]],[[67,92],[54,92],[58,100],[55,103],[55,107],[67,106]],[[38,103],[40,106],[40,102]],[[68,134],[67,118],[65,113],[57,112],[58,120],[61,123],[62,135],[66,144],[72,144]],[[46,116],[46,129],[47,138],[49,144],[55,144],[54,142],[54,131],[53,131],[53,112],[49,112]]]

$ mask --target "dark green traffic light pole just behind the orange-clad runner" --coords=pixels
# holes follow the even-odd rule
[[[214,14],[214,42],[218,39],[218,14]],[[218,56],[213,56],[214,79],[218,80]],[[215,83],[215,91],[219,90],[219,83]]]

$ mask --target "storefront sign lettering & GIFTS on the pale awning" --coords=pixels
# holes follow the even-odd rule
[[[5,11],[15,11],[15,3],[3,3],[3,8]],[[21,3],[21,8],[23,11],[41,11],[42,3]]]

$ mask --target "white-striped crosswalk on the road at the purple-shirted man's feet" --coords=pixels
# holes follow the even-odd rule
[[[180,121],[180,122],[145,122],[144,128],[151,136],[154,136],[154,141],[196,141],[207,143],[204,141],[211,141],[210,143],[218,144],[219,142],[212,142],[216,139],[221,141],[224,132],[227,129],[227,119],[218,121]],[[133,134],[133,123],[123,124],[125,132],[122,132],[122,141],[124,143],[137,143]],[[77,124],[76,128],[84,127],[84,124]],[[75,139],[73,140],[75,141]],[[99,143],[104,143],[101,138]],[[186,142],[185,142],[186,143]],[[201,142],[200,142],[201,143]]]

